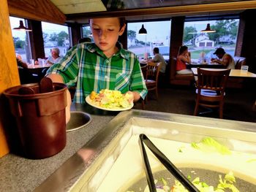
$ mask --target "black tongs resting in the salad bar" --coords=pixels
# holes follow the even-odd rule
[[[165,168],[173,174],[176,179],[187,188],[188,191],[191,192],[200,192],[195,185],[193,185],[187,177],[182,174],[178,168],[170,162],[170,160],[151,142],[151,140],[146,137],[145,134],[140,134],[139,144],[140,144],[140,151],[144,161],[144,170],[146,172],[146,179],[148,182],[148,188],[150,192],[157,192],[156,185],[154,184],[154,177],[151,171],[151,167],[148,161],[148,155],[146,153],[146,149],[143,145],[143,142],[146,146],[151,150],[151,152],[159,159],[159,161],[165,166]]]

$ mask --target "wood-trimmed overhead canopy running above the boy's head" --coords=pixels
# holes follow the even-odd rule
[[[121,17],[148,20],[209,15],[230,15],[255,9],[256,1],[239,0],[50,0],[67,16],[67,22],[87,23],[88,18]]]

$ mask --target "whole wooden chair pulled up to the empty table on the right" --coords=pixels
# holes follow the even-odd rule
[[[223,118],[225,87],[230,69],[212,71],[197,68],[197,95],[194,115],[198,107],[219,108],[219,118]]]

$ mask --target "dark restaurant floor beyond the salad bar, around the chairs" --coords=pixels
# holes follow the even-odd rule
[[[255,103],[255,99],[255,88],[227,88],[224,104],[224,119],[256,123],[256,111],[252,110],[252,104]],[[159,88],[158,101],[156,100],[154,91],[149,92],[145,110],[193,115],[194,107],[195,88],[171,86],[168,88]],[[136,103],[134,108],[141,110],[141,104]],[[200,108],[200,111],[205,111],[205,109]],[[217,110],[200,116],[219,118]]]

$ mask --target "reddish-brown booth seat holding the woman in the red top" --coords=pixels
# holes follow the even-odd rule
[[[170,84],[191,85],[193,80],[194,80],[193,74],[177,74],[176,73],[176,58],[171,58],[171,61],[170,61]]]

